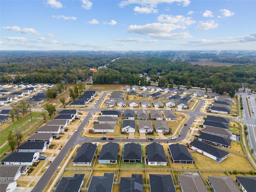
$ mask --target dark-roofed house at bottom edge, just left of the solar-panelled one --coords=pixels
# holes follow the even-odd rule
[[[115,173],[104,173],[103,176],[92,176],[87,192],[112,192]]]

